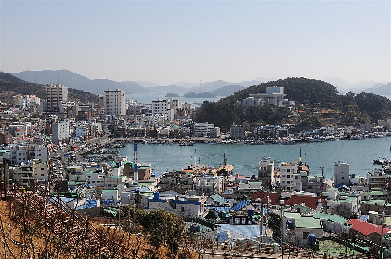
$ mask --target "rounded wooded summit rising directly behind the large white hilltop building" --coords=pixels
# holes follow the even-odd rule
[[[336,87],[329,83],[304,77],[291,77],[247,87],[224,98],[223,101],[228,101],[229,103],[235,103],[237,100],[242,101],[248,98],[249,94],[266,92],[266,87],[274,85],[284,87],[284,93],[287,94],[284,98],[292,101],[303,102],[307,100],[308,102],[319,103],[322,101],[333,101],[337,98]]]

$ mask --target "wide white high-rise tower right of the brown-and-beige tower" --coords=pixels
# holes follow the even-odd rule
[[[121,89],[104,91],[103,112],[105,115],[125,115],[125,92]]]

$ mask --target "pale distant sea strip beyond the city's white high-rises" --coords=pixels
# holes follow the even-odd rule
[[[126,94],[125,99],[137,100],[138,103],[149,103],[151,105],[152,101],[157,99],[165,100],[168,97],[165,97],[166,94]],[[174,100],[181,100],[182,103],[191,103],[193,107],[199,107],[204,101],[218,101],[221,98],[226,96],[217,96],[217,98],[203,99],[203,98],[185,98],[185,97],[173,97]],[[196,103],[196,104],[195,104]],[[148,105],[147,105],[148,106]]]

